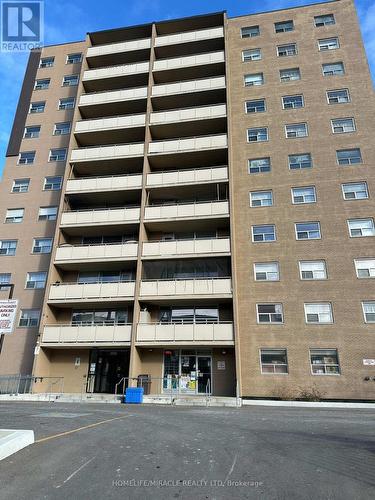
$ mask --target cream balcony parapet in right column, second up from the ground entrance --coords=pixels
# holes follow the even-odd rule
[[[142,280],[140,296],[152,300],[164,298],[231,298],[231,278],[195,278]]]

